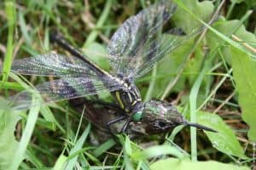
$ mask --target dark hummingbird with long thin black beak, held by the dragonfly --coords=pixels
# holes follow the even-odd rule
[[[76,102],[77,99],[76,99]],[[73,105],[73,102],[71,102]],[[112,124],[108,127],[108,122],[124,116],[125,113],[119,107],[113,105],[100,105],[89,100],[82,100],[79,105],[85,105],[85,117],[102,133],[101,136],[111,137],[111,133],[120,133],[125,125],[125,120]],[[78,105],[73,105],[79,108]],[[80,108],[82,111],[82,108]],[[125,130],[131,138],[139,138],[144,135],[160,134],[171,132],[179,125],[193,126],[203,130],[216,132],[210,127],[205,127],[197,123],[188,122],[177,111],[177,108],[165,101],[151,100],[144,103],[143,115],[139,122],[131,122]],[[104,139],[108,139],[104,138]]]

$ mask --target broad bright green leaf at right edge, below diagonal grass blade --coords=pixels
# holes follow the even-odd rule
[[[256,142],[256,61],[235,48],[231,54],[241,116],[250,127],[249,139]]]

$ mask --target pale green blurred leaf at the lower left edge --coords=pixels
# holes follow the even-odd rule
[[[7,107],[7,102],[0,98],[0,169],[9,169],[18,142],[15,140],[15,127],[20,120],[19,114]]]

